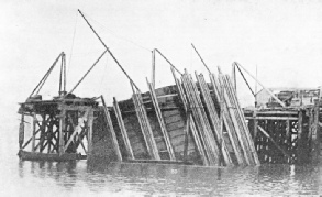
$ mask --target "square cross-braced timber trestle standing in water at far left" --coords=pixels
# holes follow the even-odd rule
[[[97,108],[98,102],[79,98],[29,99],[21,103],[20,157],[54,161],[86,158],[92,151]]]

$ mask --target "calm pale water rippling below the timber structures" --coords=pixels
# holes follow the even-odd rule
[[[18,130],[16,130],[18,131]],[[196,167],[19,161],[16,132],[0,139],[0,196],[319,196],[322,165]]]

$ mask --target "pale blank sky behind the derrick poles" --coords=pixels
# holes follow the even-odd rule
[[[1,0],[0,90],[3,127],[16,127],[23,102],[62,53],[66,54],[67,90],[96,62],[104,47],[80,9],[142,91],[151,80],[152,53],[158,48],[178,69],[208,76],[191,47],[211,70],[231,74],[238,62],[267,87],[322,84],[322,1],[255,0]],[[57,66],[41,90],[58,94]],[[251,86],[255,81],[247,77]],[[207,80],[209,80],[207,78]],[[156,88],[174,84],[169,65],[156,55]],[[258,87],[258,90],[260,87]],[[126,77],[106,54],[74,94],[103,95],[108,103],[130,98]],[[243,106],[254,99],[241,76]]]

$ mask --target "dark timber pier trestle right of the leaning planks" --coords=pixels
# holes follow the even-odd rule
[[[260,163],[318,163],[321,103],[298,108],[245,110]]]

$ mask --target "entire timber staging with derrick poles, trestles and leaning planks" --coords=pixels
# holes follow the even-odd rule
[[[186,69],[181,73],[155,48],[152,79],[146,79],[148,91],[141,92],[79,13],[106,51],[69,91],[66,91],[66,55],[59,54],[26,101],[20,103],[21,160],[60,162],[100,157],[202,166],[301,165],[322,160],[320,89],[314,91],[317,97],[310,97],[310,105],[302,100],[306,95],[297,97],[299,105],[290,105],[298,94],[271,92],[238,63],[233,63],[232,76],[220,68],[214,74],[192,45],[209,72],[207,76],[197,72],[192,75]],[[155,88],[156,52],[170,65],[173,86]],[[118,101],[113,97],[111,106],[107,106],[103,96],[79,98],[73,94],[106,53],[132,87],[130,99]],[[62,63],[58,96],[43,100],[38,92],[58,62]],[[254,108],[242,109],[236,94],[236,68],[244,79],[242,69],[268,94],[266,106],[258,107],[255,102]],[[256,98],[257,92],[253,95]]]

